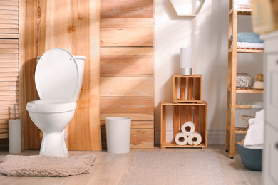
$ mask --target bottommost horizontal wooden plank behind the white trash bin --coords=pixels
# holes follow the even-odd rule
[[[153,129],[130,129],[130,149],[153,149],[154,147]],[[101,142],[103,148],[106,145],[106,131],[101,129]]]

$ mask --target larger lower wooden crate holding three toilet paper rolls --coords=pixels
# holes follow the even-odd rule
[[[180,132],[180,128],[187,121],[192,121],[195,124],[195,132],[199,132],[202,136],[201,144],[197,146],[177,145],[175,142],[166,142],[166,107],[173,106],[173,136]],[[173,103],[161,102],[161,132],[160,132],[160,147],[161,148],[207,148],[207,102],[202,103]]]

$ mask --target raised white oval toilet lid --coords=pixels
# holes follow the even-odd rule
[[[73,55],[53,48],[41,56],[35,83],[41,99],[71,99],[78,85],[78,68]]]

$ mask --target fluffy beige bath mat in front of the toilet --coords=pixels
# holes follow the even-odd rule
[[[95,155],[53,157],[7,155],[0,163],[0,174],[7,176],[72,176],[88,174]]]

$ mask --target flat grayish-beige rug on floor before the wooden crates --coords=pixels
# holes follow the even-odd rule
[[[227,184],[214,152],[137,152],[123,184]]]

